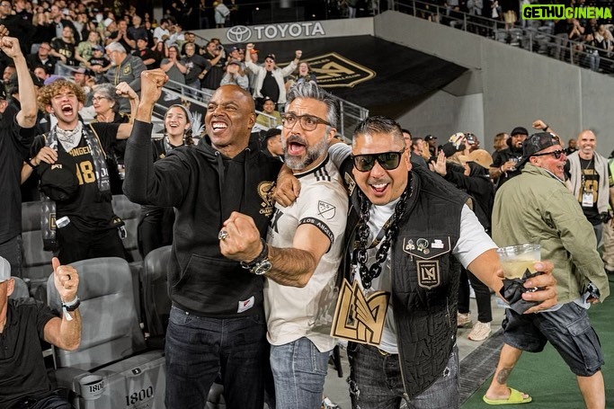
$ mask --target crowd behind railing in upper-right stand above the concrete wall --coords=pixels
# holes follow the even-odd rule
[[[432,22],[465,28],[495,40],[532,49],[593,71],[614,72],[614,25],[610,21],[594,18],[529,21],[521,16],[524,4],[565,4],[574,8],[586,6],[585,0],[416,0],[415,3],[404,0],[396,2],[396,9]],[[493,30],[494,26],[497,30]]]

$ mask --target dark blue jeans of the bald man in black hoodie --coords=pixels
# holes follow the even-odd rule
[[[263,409],[266,351],[264,314],[222,319],[172,307],[165,345],[166,407],[202,409],[221,374],[228,409]]]

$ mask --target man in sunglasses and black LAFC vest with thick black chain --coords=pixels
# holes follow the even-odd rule
[[[363,120],[351,158],[343,144],[329,153],[351,197],[347,231],[355,233],[345,237],[346,277],[360,283],[367,299],[376,290],[390,295],[381,342],[348,346],[352,407],[398,408],[405,400],[420,409],[458,408],[459,267],[498,291],[503,271],[496,245],[466,195],[427,170],[412,169],[396,121]],[[525,287],[543,289],[522,298],[543,302],[528,312],[556,304],[552,264],[535,268],[547,273]],[[354,326],[369,325],[369,319],[354,319]]]

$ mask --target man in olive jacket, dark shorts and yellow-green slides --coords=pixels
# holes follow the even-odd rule
[[[587,310],[610,295],[591,223],[565,187],[565,150],[549,132],[523,142],[522,173],[505,183],[494,199],[493,238],[499,246],[539,244],[541,259],[555,264],[558,304],[538,314],[506,310],[504,344],[484,400],[530,402],[507,387],[522,351],[542,351],[552,343],[578,380],[586,407],[605,408],[603,353]]]

